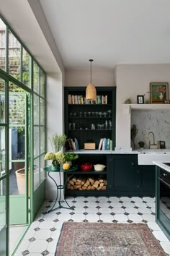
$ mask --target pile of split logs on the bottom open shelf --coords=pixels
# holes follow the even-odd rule
[[[107,180],[100,177],[73,176],[67,183],[67,189],[71,190],[106,190]]]

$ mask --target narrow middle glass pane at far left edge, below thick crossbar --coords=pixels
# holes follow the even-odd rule
[[[0,127],[0,178],[5,173],[5,128]]]

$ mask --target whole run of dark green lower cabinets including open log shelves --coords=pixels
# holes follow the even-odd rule
[[[81,163],[103,163],[104,172],[84,172]],[[76,196],[155,196],[155,166],[138,166],[138,155],[135,154],[89,154],[79,155],[79,170],[65,174],[65,182],[70,175],[91,176],[94,179],[107,180],[106,190],[65,190],[66,195]]]

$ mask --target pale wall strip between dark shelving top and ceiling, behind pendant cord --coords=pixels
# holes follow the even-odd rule
[[[95,86],[115,86],[115,73],[113,69],[92,69],[92,83]],[[90,70],[66,70],[65,86],[86,86],[90,82]]]

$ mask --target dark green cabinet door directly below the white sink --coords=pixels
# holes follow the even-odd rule
[[[139,196],[155,196],[155,166],[138,166]]]

